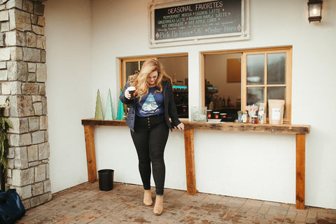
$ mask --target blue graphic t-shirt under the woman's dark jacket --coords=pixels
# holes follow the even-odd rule
[[[148,94],[142,97],[141,102],[138,102],[136,105],[135,114],[138,117],[147,117],[153,115],[159,115],[164,113],[163,109],[163,95],[162,92],[156,92],[160,90],[158,87],[150,87]],[[139,98],[138,98],[139,100]]]

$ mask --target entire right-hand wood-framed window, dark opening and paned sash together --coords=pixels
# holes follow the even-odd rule
[[[239,58],[239,55],[241,55],[241,58]],[[203,53],[203,59],[203,92],[205,106],[208,106],[207,104],[209,103],[207,102],[207,100],[209,100],[207,99],[207,85],[209,85],[209,80],[213,79],[216,86],[223,86],[223,88],[225,88],[225,94],[223,94],[223,96],[216,95],[216,92],[213,96],[214,99],[219,99],[219,102],[226,107],[221,108],[221,113],[228,112],[232,113],[232,116],[237,116],[237,111],[245,111],[246,105],[257,104],[259,106],[260,103],[267,103],[268,99],[284,99],[285,107],[283,111],[283,121],[290,123],[292,72],[291,47],[237,50],[230,52],[207,52]],[[220,59],[220,61],[218,61],[218,59]],[[232,75],[237,69],[231,71],[229,68],[229,66],[235,66],[235,64],[231,64],[232,62],[235,62],[235,59],[241,59],[241,83],[238,81],[239,79],[237,79],[237,75]],[[213,61],[209,62],[209,60]],[[216,63],[214,64],[214,62]],[[237,61],[235,63],[237,63]],[[214,66],[215,68],[217,66],[217,70],[220,70],[221,74],[209,73],[209,67]],[[221,66],[226,66],[226,68]],[[214,69],[214,71],[216,71],[216,69]],[[233,80],[233,82],[230,80]],[[219,87],[217,91],[221,91],[219,90]],[[241,92],[240,97],[239,94],[237,94],[237,91]],[[229,104],[228,99],[230,99]],[[214,109],[216,110],[216,103]]]

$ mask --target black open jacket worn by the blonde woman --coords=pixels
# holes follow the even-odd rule
[[[127,113],[126,123],[128,127],[130,127],[130,130],[134,132],[136,99],[127,99],[125,97],[125,90],[127,90],[127,87],[129,86],[130,83],[126,83],[123,93],[120,95],[120,100],[124,104],[130,104],[130,110]],[[172,130],[172,127],[179,125],[181,121],[179,120],[179,116],[176,111],[173,88],[169,80],[162,81],[162,95],[163,95],[163,102],[165,104],[165,120],[169,129]],[[172,123],[170,123],[169,117],[172,119]]]

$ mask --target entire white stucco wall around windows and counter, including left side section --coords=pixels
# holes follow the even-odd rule
[[[117,108],[118,57],[188,52],[189,104],[198,106],[201,52],[293,45],[292,123],[311,125],[306,204],[336,209],[336,121],[330,119],[336,110],[336,2],[323,1],[322,22],[309,24],[306,0],[253,0],[250,40],[154,49],[148,48],[147,3],[45,2],[52,191],[87,181],[80,119],[94,117],[98,88],[103,111],[109,88]],[[141,184],[129,132],[95,128],[97,169],[115,169],[115,181]],[[169,136],[165,160],[166,187],[186,190],[182,132]],[[200,192],[295,204],[294,135],[197,131],[195,165]]]

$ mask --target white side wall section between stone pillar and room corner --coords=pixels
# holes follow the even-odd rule
[[[81,118],[92,117],[90,1],[45,2],[52,193],[87,181]]]

